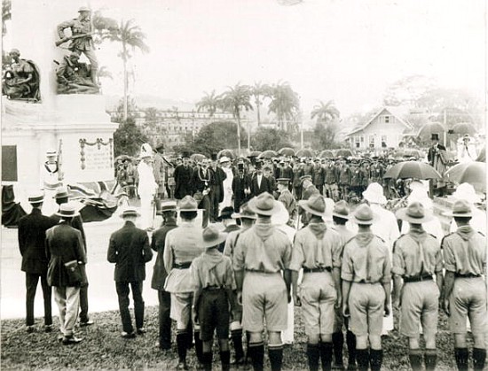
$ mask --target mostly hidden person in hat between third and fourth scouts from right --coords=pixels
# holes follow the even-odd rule
[[[341,200],[334,205],[332,220],[334,230],[341,237],[343,246],[356,234],[346,227],[349,220],[349,206],[346,201]],[[346,344],[348,348],[348,370],[356,370],[356,336],[350,331],[349,318],[342,315],[342,306],[335,307],[334,332],[332,333],[332,345],[334,348],[334,367],[343,369],[342,348],[344,345],[344,335],[342,325],[346,328]]]

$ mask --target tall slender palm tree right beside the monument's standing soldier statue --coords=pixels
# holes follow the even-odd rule
[[[141,50],[143,53],[149,52],[149,47],[145,43],[146,35],[138,25],[134,25],[134,19],[127,21],[122,19],[119,27],[102,35],[102,38],[111,42],[121,43],[122,45],[122,50],[118,56],[122,58],[123,62],[123,119],[127,120],[129,89],[127,61],[132,57],[130,52],[134,52],[136,49]]]

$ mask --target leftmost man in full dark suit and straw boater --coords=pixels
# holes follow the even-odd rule
[[[34,298],[37,282],[41,279],[44,299],[44,330],[51,332],[51,287],[47,284],[47,264],[45,252],[46,230],[56,222],[41,213],[44,195],[37,192],[28,197],[32,212],[19,220],[19,249],[22,255],[21,269],[26,273],[26,326],[28,333],[34,327]]]

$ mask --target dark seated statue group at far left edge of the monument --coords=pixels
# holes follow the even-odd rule
[[[20,58],[20,51],[9,53],[12,63],[4,66],[2,94],[14,100],[40,100],[39,71],[34,62]]]

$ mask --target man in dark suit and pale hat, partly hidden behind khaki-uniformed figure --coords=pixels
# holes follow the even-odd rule
[[[153,233],[151,249],[158,253],[153,269],[153,280],[151,287],[158,290],[159,300],[159,342],[161,351],[171,349],[171,294],[164,290],[164,283],[168,272],[164,267],[164,247],[166,235],[171,229],[177,228],[177,202],[175,200],[164,200],[161,202],[162,225]]]

